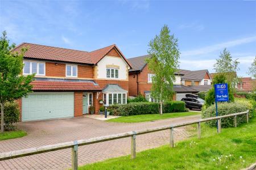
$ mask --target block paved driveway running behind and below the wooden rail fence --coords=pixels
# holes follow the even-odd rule
[[[0,152],[52,145],[60,142],[88,139],[126,131],[143,130],[184,121],[197,120],[199,118],[200,116],[196,115],[133,124],[104,122],[88,117],[20,122],[18,128],[26,130],[28,135],[23,138],[0,141]],[[188,138],[190,134],[185,127],[181,127],[175,129],[174,135],[175,141],[178,141]],[[139,135],[136,141],[137,151],[165,145],[169,140],[170,130]],[[79,165],[129,155],[130,141],[130,138],[123,138],[81,146],[79,147]],[[0,169],[66,169],[69,167],[71,167],[71,148],[0,162]]]

